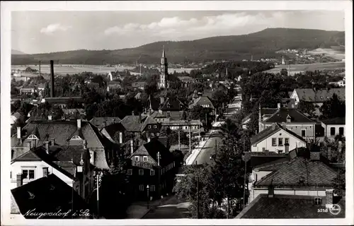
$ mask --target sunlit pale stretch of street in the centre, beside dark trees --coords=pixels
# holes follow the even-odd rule
[[[219,144],[222,140],[219,135],[219,130],[210,131],[210,133],[205,135],[205,139],[208,139],[207,143],[205,143],[199,155],[195,158],[194,164],[195,162],[197,162],[198,165],[210,163],[212,161],[210,160],[210,156],[215,153],[215,141]]]

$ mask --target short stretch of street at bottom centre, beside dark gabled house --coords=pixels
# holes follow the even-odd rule
[[[188,202],[180,201],[176,196],[171,196],[164,205],[153,208],[142,219],[188,218],[188,206]]]

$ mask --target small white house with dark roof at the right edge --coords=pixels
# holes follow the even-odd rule
[[[338,117],[333,119],[324,119],[321,121],[324,128],[324,137],[334,140],[336,136],[346,136],[346,118]]]

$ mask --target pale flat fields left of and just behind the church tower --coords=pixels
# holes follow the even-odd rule
[[[12,65],[11,71],[17,70],[17,69],[25,70],[28,67],[30,67],[31,69],[37,69],[38,71],[40,69],[40,73],[50,73],[50,65],[48,65],[48,64],[42,64],[40,67],[39,67],[39,65]],[[117,67],[117,70],[122,71],[125,69],[130,70],[133,68],[134,67],[120,66],[120,67]],[[169,73],[173,73],[173,71],[176,71],[176,72],[186,71],[189,73],[191,70],[193,70],[193,69],[169,69]],[[72,75],[72,74],[81,73],[84,71],[90,71],[92,73],[98,73],[98,74],[106,74],[106,73],[109,73],[110,71],[115,71],[115,67],[99,66],[99,65],[64,65],[64,64],[61,66],[59,66],[59,65],[54,66],[54,73],[60,74],[60,75],[66,75],[66,74]],[[37,74],[34,74],[34,75],[37,76]],[[134,73],[132,73],[132,74],[134,74]],[[24,75],[24,73],[23,73],[23,75]],[[30,77],[31,74],[28,73],[25,76]],[[32,76],[33,76],[33,74],[32,74]]]

